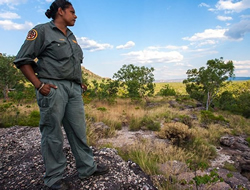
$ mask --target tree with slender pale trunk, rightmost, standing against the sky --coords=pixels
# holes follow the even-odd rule
[[[208,110],[220,88],[227,85],[229,78],[234,77],[232,61],[224,63],[223,58],[208,60],[207,68],[191,69],[186,72],[188,78],[183,81],[189,95],[206,102]]]

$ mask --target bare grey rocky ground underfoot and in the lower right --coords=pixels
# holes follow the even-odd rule
[[[140,135],[142,131],[130,132],[125,130],[129,140]],[[122,131],[117,139],[121,140]],[[153,135],[146,134],[152,138]],[[126,141],[126,138],[122,138]],[[115,141],[115,139],[113,139]],[[129,143],[128,143],[129,144]],[[103,176],[89,177],[83,181],[78,179],[74,158],[65,138],[64,153],[67,156],[65,178],[71,184],[71,189],[103,189],[103,190],[154,190],[157,189],[152,181],[158,180],[164,184],[173,182],[172,189],[197,189],[190,183],[195,176],[210,175],[217,169],[218,177],[223,179],[212,184],[201,184],[198,189],[250,189],[249,180],[241,175],[249,168],[249,146],[242,137],[225,136],[221,138],[218,158],[212,161],[212,168],[206,171],[190,171],[185,163],[178,161],[166,162],[159,165],[162,173],[171,174],[168,179],[163,175],[148,176],[132,161],[124,161],[115,149],[95,149],[97,163],[110,166],[110,172]],[[223,169],[223,164],[229,162],[235,165],[238,172]],[[241,172],[241,173],[240,173]],[[40,132],[38,128],[12,127],[0,129],[0,189],[46,189],[43,185],[44,166],[40,153]],[[175,182],[175,183],[174,183]]]

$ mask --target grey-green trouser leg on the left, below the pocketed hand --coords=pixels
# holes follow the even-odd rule
[[[61,128],[65,107],[62,93],[62,88],[58,87],[58,89],[51,88],[48,96],[37,94],[41,117],[39,126],[42,134],[41,150],[45,164],[44,183],[46,186],[51,186],[62,179],[66,167]]]

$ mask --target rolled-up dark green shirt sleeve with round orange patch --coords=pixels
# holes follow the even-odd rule
[[[26,40],[20,48],[14,64],[17,68],[22,65],[30,64],[33,68],[36,68],[36,62],[34,61],[41,52],[44,46],[44,29],[42,26],[36,26],[28,32]]]

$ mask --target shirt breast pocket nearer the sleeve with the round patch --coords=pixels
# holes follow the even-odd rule
[[[53,41],[51,42],[51,54],[55,60],[60,61],[69,59],[69,57],[72,55],[72,50],[70,45],[65,41]]]

